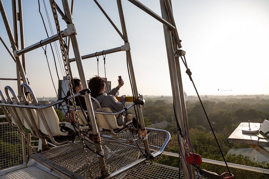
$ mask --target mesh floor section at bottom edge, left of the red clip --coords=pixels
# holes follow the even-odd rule
[[[178,179],[179,170],[174,167],[169,167],[161,164],[139,164],[138,166],[128,170],[117,179]],[[209,179],[207,177],[195,175],[196,179]],[[183,173],[180,173],[180,178],[183,179]]]

